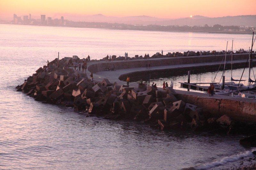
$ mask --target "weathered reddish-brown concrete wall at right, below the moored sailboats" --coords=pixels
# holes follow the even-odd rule
[[[234,120],[256,123],[256,100],[176,90],[178,99],[202,107],[213,117],[227,114]]]

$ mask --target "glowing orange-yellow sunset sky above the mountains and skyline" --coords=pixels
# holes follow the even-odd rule
[[[208,17],[255,15],[256,0],[0,0],[0,19],[18,16],[54,18],[103,14],[106,16],[148,15],[157,18],[183,18],[190,15]]]

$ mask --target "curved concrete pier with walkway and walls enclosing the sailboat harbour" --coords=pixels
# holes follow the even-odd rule
[[[243,68],[248,55],[248,53],[233,54],[233,68]],[[255,55],[255,53],[253,53],[253,55]],[[149,60],[91,62],[88,64],[87,75],[90,75],[92,72],[94,80],[101,81],[103,78],[108,78],[111,82],[126,84],[126,82],[122,80],[125,80],[127,75],[129,75],[131,81],[133,81],[145,77],[148,73],[159,74],[172,71],[173,73],[182,74],[184,72],[184,74],[186,74],[188,70],[193,69],[199,71],[216,71],[223,57],[224,55],[210,55],[199,57],[151,58]],[[231,56],[228,56],[227,60],[228,64],[226,66],[229,67],[231,65]],[[150,70],[145,70],[147,63],[151,65]],[[115,66],[116,71],[104,71],[106,68],[112,68],[113,66]],[[138,87],[138,84],[130,83],[130,87]],[[204,93],[182,90],[176,91],[181,100],[202,107],[206,114],[210,114],[213,117],[227,114],[234,120],[256,123],[255,99],[220,95],[209,97]]]

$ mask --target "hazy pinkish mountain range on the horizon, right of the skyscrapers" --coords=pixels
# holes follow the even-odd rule
[[[73,16],[74,17],[74,16]],[[72,18],[73,18],[72,17]],[[220,24],[223,26],[256,26],[256,15],[240,15],[240,16],[226,16],[226,17],[204,17],[200,15],[193,16],[192,19],[179,18],[179,19],[162,19],[150,16],[130,16],[130,17],[108,17],[102,14],[76,16],[76,21],[86,22],[108,22],[119,24],[132,24],[132,25],[191,25],[203,26]]]

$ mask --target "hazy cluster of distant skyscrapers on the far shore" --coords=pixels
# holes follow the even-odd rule
[[[40,19],[31,18],[31,14],[24,15],[23,20],[16,14],[13,14],[12,24],[29,24],[29,25],[48,25],[48,26],[65,26],[66,21],[62,16],[61,19],[52,19],[52,17],[47,17],[46,15],[41,15]]]

